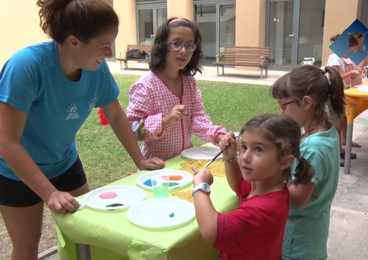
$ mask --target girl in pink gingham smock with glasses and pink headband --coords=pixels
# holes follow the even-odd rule
[[[192,134],[217,145],[226,130],[206,115],[194,75],[202,73],[202,37],[197,26],[181,18],[158,28],[150,72],[135,82],[127,116],[144,122],[142,154],[167,160],[192,147]]]

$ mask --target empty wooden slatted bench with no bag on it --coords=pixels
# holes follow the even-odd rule
[[[218,67],[222,67],[222,75],[224,75],[224,66],[244,66],[244,67],[259,67],[261,68],[261,79],[263,79],[263,69],[265,69],[267,78],[268,57],[270,47],[239,47],[225,46],[223,54],[216,55],[216,62],[213,62]],[[219,57],[222,56],[221,61]]]

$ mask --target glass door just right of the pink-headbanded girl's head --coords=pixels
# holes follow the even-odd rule
[[[225,45],[235,45],[235,1],[194,4],[194,19],[203,40],[203,66],[213,66]]]

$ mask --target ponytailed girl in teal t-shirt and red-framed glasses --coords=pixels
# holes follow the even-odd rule
[[[328,78],[326,77],[328,74]],[[332,67],[294,68],[271,86],[281,110],[294,118],[304,134],[301,155],[315,169],[311,182],[289,184],[290,211],[283,244],[283,259],[326,259],[330,209],[339,181],[339,134],[325,112],[327,101],[338,116],[344,114],[340,74]]]

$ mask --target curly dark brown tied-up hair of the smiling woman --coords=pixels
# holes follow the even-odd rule
[[[38,0],[36,4],[42,30],[57,43],[70,35],[88,43],[119,26],[114,9],[103,0]]]

